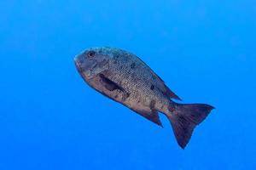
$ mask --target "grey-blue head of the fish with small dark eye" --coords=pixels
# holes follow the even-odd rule
[[[88,48],[78,54],[74,61],[80,75],[85,80],[90,80],[103,71],[107,71],[111,59],[113,59],[113,54],[108,48]]]

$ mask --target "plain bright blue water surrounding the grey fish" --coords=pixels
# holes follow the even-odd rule
[[[256,169],[256,3],[0,2],[0,169]],[[187,148],[97,94],[73,57],[137,54],[184,103],[217,109]]]

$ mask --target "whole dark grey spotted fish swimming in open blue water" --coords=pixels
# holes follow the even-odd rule
[[[91,88],[163,127],[171,122],[177,144],[185,148],[197,125],[215,109],[207,104],[182,104],[166,83],[137,55],[119,48],[87,48],[74,63]]]

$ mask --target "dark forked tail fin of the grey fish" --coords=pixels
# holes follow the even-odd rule
[[[214,109],[211,105],[205,104],[175,104],[170,107],[171,114],[168,118],[177,139],[177,143],[184,149],[189,143],[196,125],[205,120],[208,114]]]

